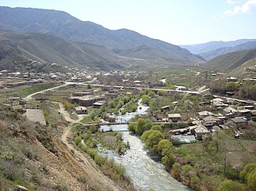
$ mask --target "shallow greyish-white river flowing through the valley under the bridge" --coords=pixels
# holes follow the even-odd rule
[[[122,115],[118,117],[118,120],[121,118],[129,120],[135,114],[144,114],[145,110],[148,109],[147,106],[142,106],[140,102],[139,107],[141,107],[141,110],[137,110],[135,113]],[[127,131],[128,125],[119,124],[101,126],[101,129],[104,131],[108,131],[110,128],[112,128],[112,131],[117,132]],[[139,137],[130,135],[129,132],[123,132],[123,141],[130,142],[130,150],[127,150],[124,155],[119,155],[110,150],[105,151],[105,154],[107,154],[109,158],[113,158],[116,162],[122,163],[126,167],[126,173],[132,179],[133,185],[137,190],[192,190],[172,178],[161,162],[153,160],[148,154],[148,151],[144,149],[144,143],[141,142]]]

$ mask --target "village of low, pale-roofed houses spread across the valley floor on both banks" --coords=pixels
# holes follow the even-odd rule
[[[31,65],[42,65],[37,61],[31,61]],[[56,64],[50,64],[56,66]],[[61,74],[57,73],[28,73],[22,72],[9,72],[2,70],[0,75],[2,77],[1,89],[5,89],[22,86],[22,85],[37,85],[46,81],[49,83],[60,83],[60,85],[67,85],[72,87],[72,92],[66,92],[65,98],[71,104],[75,104],[72,107],[71,113],[74,114],[88,114],[87,108],[100,109],[101,106],[109,106],[112,99],[116,99],[119,96],[124,95],[137,95],[138,92],[144,89],[150,89],[154,92],[151,99],[161,99],[162,97],[168,97],[170,95],[187,94],[186,100],[174,99],[170,102],[170,105],[158,104],[155,109],[151,110],[150,118],[155,124],[164,124],[170,127],[170,140],[176,143],[189,143],[196,142],[196,140],[202,141],[206,139],[208,135],[214,132],[218,132],[221,129],[232,129],[232,132],[236,138],[243,136],[243,132],[251,128],[249,123],[253,122],[256,116],[256,102],[253,100],[244,99],[232,99],[233,92],[227,92],[227,97],[210,95],[209,91],[204,92],[189,92],[188,88],[179,86],[171,92],[165,92],[163,80],[159,79],[159,82],[155,82],[155,85],[143,82],[141,73],[126,72],[123,70],[115,70],[112,72],[96,72],[90,73],[89,70],[79,70],[78,68],[66,67],[70,72]],[[222,74],[221,74],[222,75]],[[147,72],[143,72],[143,76],[147,77]],[[213,74],[213,76],[215,76]],[[108,79],[118,79],[115,81],[115,85],[108,81]],[[139,80],[138,80],[139,79]],[[245,79],[246,80],[246,79]],[[255,81],[254,79],[249,79]],[[228,77],[226,81],[238,81],[236,77]],[[106,85],[104,85],[106,83]],[[162,85],[161,85],[162,83]],[[78,91],[75,87],[81,86]],[[159,91],[159,86],[162,86],[162,90]],[[182,87],[182,89],[180,88]],[[175,87],[174,87],[175,88]],[[174,92],[173,92],[174,91]],[[186,92],[188,91],[188,92]],[[163,95],[158,95],[161,92]],[[49,99],[49,91],[42,92],[37,95],[35,100],[40,102]],[[197,96],[196,99],[203,101],[196,101],[196,105],[191,103],[189,97]],[[158,97],[158,98],[156,98]],[[180,96],[178,96],[180,97]],[[36,119],[37,117],[30,117],[31,114],[40,115],[42,124],[46,124],[42,120],[42,112],[38,114],[35,110],[38,110],[37,106],[26,106],[26,99],[19,96],[9,97],[6,91],[7,103],[11,106],[16,105],[16,108],[24,109],[22,112],[27,112],[27,117]],[[187,102],[187,103],[181,103]],[[20,106],[21,107],[20,107]],[[182,106],[181,106],[182,105]],[[33,110],[34,109],[34,110]],[[26,111],[27,110],[27,111]],[[32,111],[31,111],[32,110]],[[186,112],[184,112],[186,110]],[[109,114],[112,115],[112,114]],[[36,120],[37,121],[37,120]],[[101,124],[108,124],[108,120],[101,119]],[[100,125],[100,124],[98,124]],[[180,128],[181,127],[181,128]]]

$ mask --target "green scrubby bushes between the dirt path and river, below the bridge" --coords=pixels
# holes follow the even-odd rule
[[[79,128],[76,126],[75,128]],[[94,125],[90,128],[77,132],[79,135],[74,138],[74,142],[79,148],[88,153],[90,157],[98,164],[104,175],[108,175],[116,182],[120,182],[126,190],[133,190],[133,184],[130,177],[126,175],[126,168],[122,164],[116,164],[113,159],[104,157],[98,146],[104,147],[108,150],[115,150],[116,153],[122,154],[129,149],[129,142],[122,141],[122,134],[120,132],[105,132],[100,133],[99,129]]]

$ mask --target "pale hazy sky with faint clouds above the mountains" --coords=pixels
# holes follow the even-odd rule
[[[175,45],[256,38],[256,0],[0,0],[0,5],[63,10]]]

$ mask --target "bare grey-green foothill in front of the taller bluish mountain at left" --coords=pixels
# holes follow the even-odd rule
[[[128,59],[104,47],[82,45],[52,34],[1,32],[0,41],[2,69],[11,68],[15,63],[22,63],[27,59],[73,67],[97,67],[101,70],[120,69],[128,64]]]

